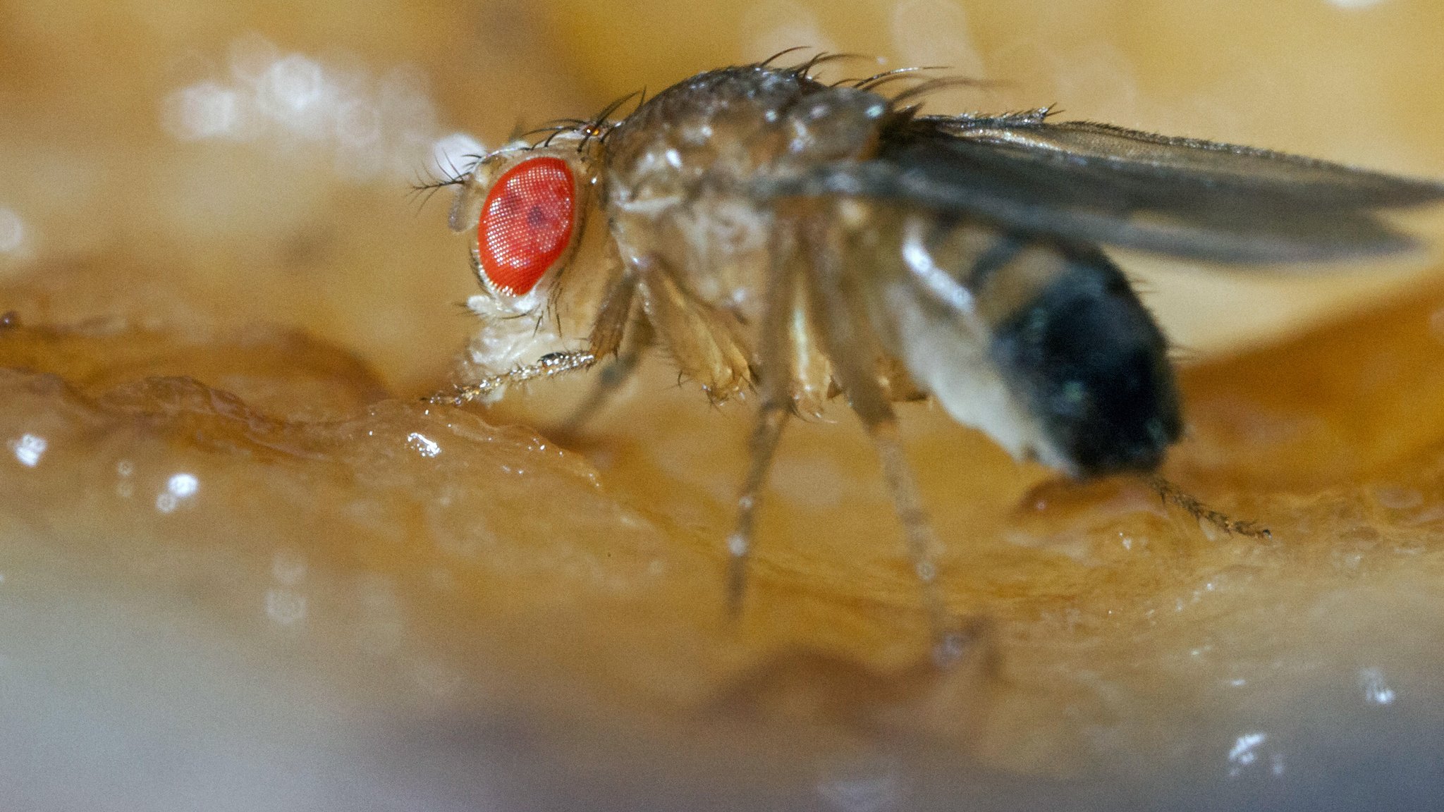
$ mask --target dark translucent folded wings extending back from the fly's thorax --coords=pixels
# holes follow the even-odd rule
[[[1077,243],[1222,263],[1326,262],[1415,241],[1378,210],[1444,185],[1252,147],[1041,116],[921,117],[865,162],[762,182],[767,195],[853,195],[982,217]]]

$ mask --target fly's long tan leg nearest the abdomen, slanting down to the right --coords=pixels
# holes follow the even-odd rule
[[[823,347],[838,386],[848,396],[852,410],[862,419],[877,448],[882,477],[902,523],[913,572],[923,591],[923,607],[933,634],[933,657],[940,666],[949,666],[962,656],[972,634],[954,627],[937,585],[937,563],[933,561],[933,550],[939,546],[937,535],[902,454],[897,415],[878,380],[878,347],[865,327],[868,322],[855,292],[849,289],[848,275],[843,273],[843,236],[827,221],[816,218],[809,223],[807,241],[812,254],[809,298],[822,327]]]

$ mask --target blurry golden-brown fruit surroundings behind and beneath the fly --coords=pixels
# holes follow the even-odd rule
[[[989,82],[937,113],[1444,178],[1441,30],[1430,0],[0,0],[0,806],[1428,808],[1437,214],[1328,273],[1123,257],[1197,363],[1170,475],[1279,543],[908,410],[1002,663],[939,673],[840,407],[788,435],[725,627],[745,407],[658,363],[563,454],[540,389],[419,405],[477,283],[412,185],[796,45]]]

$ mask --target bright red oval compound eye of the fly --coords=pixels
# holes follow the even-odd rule
[[[560,157],[529,157],[491,186],[477,224],[481,269],[498,289],[521,296],[572,238],[576,182]]]

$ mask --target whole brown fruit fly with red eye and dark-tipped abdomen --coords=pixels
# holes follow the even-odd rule
[[[471,236],[484,289],[469,379],[436,400],[605,361],[595,406],[650,348],[713,402],[757,393],[728,537],[734,610],[791,416],[840,394],[861,418],[949,644],[894,402],[931,397],[1069,477],[1152,472],[1183,429],[1178,392],[1162,332],[1105,247],[1365,259],[1415,246],[1379,210],[1444,198],[1428,181],[1047,108],[923,114],[921,97],[957,81],[904,69],[823,84],[813,69],[832,58],[697,74],[435,183],[458,188],[451,227]]]

